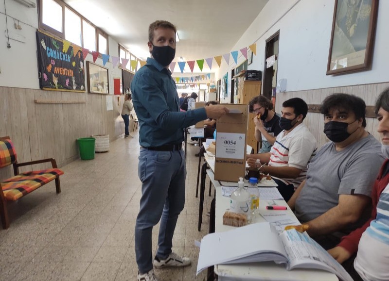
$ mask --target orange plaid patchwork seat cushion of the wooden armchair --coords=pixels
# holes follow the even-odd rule
[[[60,169],[25,172],[1,182],[1,187],[7,200],[16,201],[63,174],[64,172]]]

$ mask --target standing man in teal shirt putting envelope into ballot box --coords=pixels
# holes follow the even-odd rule
[[[172,252],[172,239],[185,202],[184,129],[207,116],[228,113],[222,105],[180,112],[176,83],[168,69],[176,54],[176,27],[158,20],[149,26],[151,58],[131,83],[141,144],[138,175],[142,182],[140,211],[135,226],[135,253],[139,281],[158,281],[153,271],[187,266],[191,260]],[[160,219],[158,251],[153,261],[152,230]]]

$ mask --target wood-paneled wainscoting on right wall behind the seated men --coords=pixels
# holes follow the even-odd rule
[[[345,87],[324,88],[296,92],[284,92],[276,94],[275,111],[281,114],[283,101],[291,98],[304,99],[307,104],[321,104],[325,97],[334,93],[353,94],[365,100],[366,105],[374,105],[379,94],[389,87],[389,83],[363,84]],[[319,113],[308,113],[304,119],[305,125],[313,133],[318,141],[318,148],[323,146],[327,141],[324,130],[324,117]],[[380,140],[380,135],[377,132],[378,121],[376,118],[366,118],[366,130],[375,138]]]

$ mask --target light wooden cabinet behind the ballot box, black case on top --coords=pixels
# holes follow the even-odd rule
[[[248,104],[248,102],[255,96],[261,95],[261,81],[239,81],[238,84],[238,103]],[[248,131],[247,131],[247,144],[254,149],[254,153],[258,152],[258,142],[255,139],[255,124],[252,121],[254,113],[248,115]]]

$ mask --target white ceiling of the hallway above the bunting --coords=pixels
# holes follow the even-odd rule
[[[159,19],[172,22],[179,36],[178,62],[179,57],[192,61],[230,52],[268,0],[64,1],[142,60],[149,56],[149,24]],[[196,68],[199,71],[195,64],[194,72]],[[204,62],[203,73],[207,71],[211,72]]]

